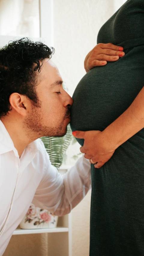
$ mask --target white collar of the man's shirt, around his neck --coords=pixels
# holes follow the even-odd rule
[[[38,152],[38,143],[37,140],[34,140],[27,146],[30,151],[35,154]],[[19,157],[17,149],[15,148],[13,141],[5,128],[3,122],[0,120],[0,154],[6,153],[13,150],[16,157]]]

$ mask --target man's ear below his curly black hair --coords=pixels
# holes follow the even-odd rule
[[[28,98],[25,95],[13,92],[9,98],[11,107],[20,115],[26,116],[28,112]]]

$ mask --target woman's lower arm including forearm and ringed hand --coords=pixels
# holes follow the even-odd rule
[[[104,131],[74,131],[76,138],[83,138],[80,148],[85,158],[90,159],[96,168],[103,166],[116,148],[144,128],[144,87],[128,109]]]

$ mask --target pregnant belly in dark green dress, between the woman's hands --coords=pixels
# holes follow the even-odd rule
[[[103,131],[131,105],[144,81],[143,64],[133,63],[131,56],[85,74],[73,94],[73,131]]]

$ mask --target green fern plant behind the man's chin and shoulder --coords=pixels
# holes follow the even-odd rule
[[[72,139],[70,125],[67,126],[67,133],[64,137],[41,137],[50,161],[57,169],[61,166],[65,152]]]

